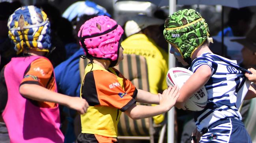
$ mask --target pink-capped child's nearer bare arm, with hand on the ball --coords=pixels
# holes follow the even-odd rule
[[[159,105],[144,106],[133,104],[131,107],[125,110],[125,114],[132,119],[149,118],[163,114],[164,112],[170,110],[176,103],[176,100],[179,97],[178,91],[179,89],[177,86],[169,87],[163,91],[163,94],[159,94],[159,96],[161,96]]]

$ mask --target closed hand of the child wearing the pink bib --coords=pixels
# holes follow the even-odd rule
[[[85,99],[80,97],[71,97],[68,107],[77,110],[80,114],[84,114],[87,112],[89,105]]]

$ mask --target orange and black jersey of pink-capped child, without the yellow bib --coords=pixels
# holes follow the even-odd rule
[[[123,78],[119,71],[114,71],[118,77]],[[122,87],[113,73],[101,70],[88,72],[82,86],[82,98],[86,99],[90,106],[109,106],[124,112],[136,102],[133,98],[137,90],[131,81],[125,78],[123,81]]]

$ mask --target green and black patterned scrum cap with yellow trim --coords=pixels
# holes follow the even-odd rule
[[[178,48],[186,62],[209,36],[207,23],[194,9],[173,13],[166,19],[164,28],[164,38]]]

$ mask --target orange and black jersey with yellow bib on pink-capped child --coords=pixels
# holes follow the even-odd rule
[[[81,115],[82,133],[116,138],[121,111],[136,103],[136,95],[135,86],[118,70],[88,64],[80,90],[80,97],[90,105]]]

